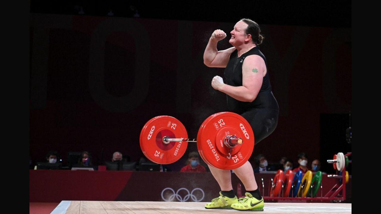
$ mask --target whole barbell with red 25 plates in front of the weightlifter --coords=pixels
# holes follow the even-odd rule
[[[189,139],[186,128],[176,118],[157,116],[150,119],[140,132],[140,147],[152,162],[170,164],[186,152],[188,142],[196,142],[200,157],[218,169],[242,166],[254,149],[254,133],[241,115],[219,112],[200,126],[197,139]]]

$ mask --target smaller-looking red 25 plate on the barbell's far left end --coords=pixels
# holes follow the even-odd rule
[[[158,116],[149,120],[140,133],[140,148],[155,163],[170,164],[184,155],[188,142],[163,143],[163,137],[188,138],[182,123],[174,117]]]

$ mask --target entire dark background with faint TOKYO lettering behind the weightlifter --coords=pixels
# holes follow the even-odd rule
[[[297,163],[306,152],[308,166],[319,159],[331,173],[325,160],[351,152],[350,1],[107,2],[30,1],[32,161],[49,150],[64,164],[67,152],[83,150],[95,164],[115,151],[138,161],[140,130],[158,115],[176,117],[196,137],[203,120],[227,111],[226,95],[210,85],[223,69],[203,65],[203,51],[213,30],[230,32],[240,18],[261,26],[280,107],[277,128],[250,161],[263,153],[269,162]],[[170,168],[179,170],[187,153]]]

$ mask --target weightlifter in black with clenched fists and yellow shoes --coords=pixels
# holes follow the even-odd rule
[[[229,43],[233,47],[218,51],[217,43],[226,37],[226,33],[219,29],[213,32],[204,52],[204,64],[225,68],[225,81],[215,76],[211,85],[226,93],[230,112],[240,114],[250,123],[257,144],[274,131],[279,115],[279,106],[271,91],[266,57],[259,50],[264,37],[259,25],[250,19],[241,19],[230,34]],[[237,199],[235,196],[230,170],[216,169],[210,165],[209,168],[221,192],[205,208],[263,211],[263,197],[249,161],[234,169],[245,185],[245,198]]]

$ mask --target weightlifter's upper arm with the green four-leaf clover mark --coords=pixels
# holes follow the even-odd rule
[[[256,98],[262,86],[263,72],[266,70],[266,64],[262,57],[250,55],[245,58],[242,65],[242,85],[245,86],[252,100]]]

